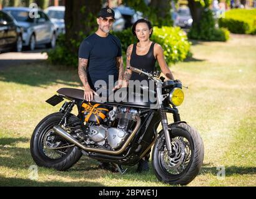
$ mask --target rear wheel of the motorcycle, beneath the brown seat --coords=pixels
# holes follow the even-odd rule
[[[52,130],[52,127],[61,121],[62,116],[62,113],[52,113],[42,119],[34,129],[30,150],[34,162],[40,167],[67,170],[81,158],[81,149],[62,139]],[[75,120],[77,120],[77,117],[71,114],[67,123],[74,122]],[[80,125],[80,122],[73,124],[73,126],[77,125]],[[51,149],[51,147],[64,148]]]

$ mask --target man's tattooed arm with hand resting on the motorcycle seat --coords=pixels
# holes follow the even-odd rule
[[[91,89],[88,79],[87,79],[87,64],[88,59],[86,58],[79,58],[79,65],[78,65],[78,75],[80,80],[82,81],[82,85],[84,85],[84,99],[87,101],[91,101],[93,99],[94,90]]]

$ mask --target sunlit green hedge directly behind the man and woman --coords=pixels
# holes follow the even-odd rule
[[[112,32],[116,35],[122,44],[122,55],[124,58],[124,65],[126,65],[126,50],[130,44],[135,44],[137,39],[132,34],[130,29],[122,32]],[[66,65],[71,67],[78,66],[78,52],[76,54],[71,52],[71,47],[66,46],[65,35],[61,35],[57,40],[55,49],[47,52],[48,60],[54,65]],[[86,37],[86,36],[84,36]],[[187,35],[179,27],[154,27],[152,40],[157,42],[164,49],[165,60],[168,65],[171,63],[181,62],[190,55],[190,42]],[[75,42],[75,46],[80,42]]]

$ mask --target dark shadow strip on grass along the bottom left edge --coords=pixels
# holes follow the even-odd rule
[[[86,181],[76,181],[76,182],[61,182],[57,180],[51,180],[47,182],[37,182],[36,180],[30,180],[29,178],[12,178],[12,177],[3,177],[0,176],[0,187],[12,186],[12,187],[24,187],[24,186],[33,186],[33,187],[103,187],[101,183],[97,182],[86,182]]]

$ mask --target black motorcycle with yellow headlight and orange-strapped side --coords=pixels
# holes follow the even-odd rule
[[[144,95],[130,92],[135,101],[84,100],[84,91],[61,88],[47,99],[52,106],[67,99],[57,113],[42,119],[31,137],[31,155],[37,165],[67,170],[87,155],[109,162],[121,174],[124,165],[135,165],[152,150],[152,168],[160,182],[187,185],[199,174],[204,159],[204,144],[199,132],[180,120],[177,106],[184,100],[182,83],[164,81],[159,72],[147,73],[130,67],[135,73],[154,81],[155,102],[143,101]],[[127,88],[121,88],[120,93]],[[126,95],[126,97],[127,97]],[[71,113],[77,106],[78,114]],[[172,113],[170,123],[167,113]],[[157,127],[162,124],[162,130]]]

